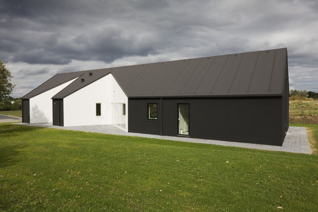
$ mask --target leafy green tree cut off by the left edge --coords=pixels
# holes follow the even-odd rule
[[[16,86],[12,84],[11,72],[5,67],[2,60],[0,60],[0,101],[7,98]]]

